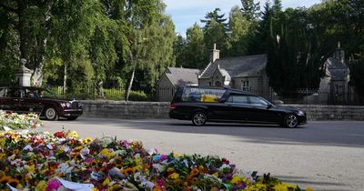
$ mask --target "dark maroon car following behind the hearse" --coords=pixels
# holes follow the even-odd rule
[[[76,100],[57,99],[45,88],[27,86],[0,87],[0,110],[37,113],[47,120],[57,120],[58,117],[75,120],[83,113]]]

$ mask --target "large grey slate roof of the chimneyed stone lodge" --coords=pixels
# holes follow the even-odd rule
[[[256,76],[267,65],[267,55],[247,55],[217,59],[214,63],[207,65],[200,78],[210,78],[219,69],[221,74],[227,73],[226,77]]]

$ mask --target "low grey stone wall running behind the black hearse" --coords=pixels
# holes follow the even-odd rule
[[[167,118],[168,102],[81,101],[84,116]],[[292,105],[307,112],[308,120],[364,120],[364,106]]]

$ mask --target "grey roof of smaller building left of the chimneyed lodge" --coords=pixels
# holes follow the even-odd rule
[[[173,85],[197,85],[198,69],[167,67],[166,75]]]

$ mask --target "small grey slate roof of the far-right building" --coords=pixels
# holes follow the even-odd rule
[[[345,80],[345,77],[349,75],[349,67],[338,58],[330,57],[326,61],[326,75],[330,76],[331,80]]]

